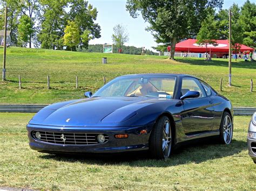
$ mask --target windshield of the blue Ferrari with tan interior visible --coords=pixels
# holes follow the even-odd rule
[[[147,96],[172,98],[176,76],[117,77],[100,88],[93,97]]]

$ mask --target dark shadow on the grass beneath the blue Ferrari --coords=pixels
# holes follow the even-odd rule
[[[247,144],[241,140],[232,140],[231,145],[220,145],[215,139],[203,139],[190,144],[179,146],[167,160],[151,159],[149,151],[125,152],[114,154],[45,154],[42,159],[51,159],[65,162],[81,162],[91,165],[126,165],[139,167],[168,167],[188,163],[204,162],[239,154],[247,149]]]

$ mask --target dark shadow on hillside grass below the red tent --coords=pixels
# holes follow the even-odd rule
[[[184,59],[184,58],[177,58],[178,62],[183,63],[190,63],[191,65],[201,65],[201,66],[224,66],[228,67],[228,61],[224,60],[211,60],[211,61],[205,61],[205,60],[199,60],[199,59]],[[233,68],[247,68],[247,69],[256,69],[256,62],[245,62],[245,61],[232,61],[232,67]]]

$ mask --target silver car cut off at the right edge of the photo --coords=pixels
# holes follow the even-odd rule
[[[256,112],[254,112],[249,125],[247,145],[248,145],[249,155],[254,161],[254,163],[256,164]]]

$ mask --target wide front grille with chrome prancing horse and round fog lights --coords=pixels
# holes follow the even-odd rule
[[[36,132],[39,132],[41,139],[36,137]],[[46,143],[55,143],[61,145],[96,145],[102,144],[97,140],[97,136],[100,133],[67,133],[67,132],[47,132],[47,131],[32,131],[32,137],[36,140]],[[103,134],[104,135],[104,134]],[[105,136],[106,143],[109,140],[109,136]]]

